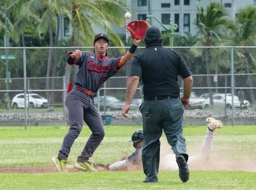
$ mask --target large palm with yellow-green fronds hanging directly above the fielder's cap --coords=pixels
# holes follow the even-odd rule
[[[72,36],[70,46],[92,46],[94,28],[101,28],[108,34],[115,46],[124,46],[120,38],[113,31],[110,23],[123,26],[123,12],[128,7],[122,0],[70,0],[65,5],[65,13],[72,22]],[[71,67],[66,65],[65,84],[70,80]]]

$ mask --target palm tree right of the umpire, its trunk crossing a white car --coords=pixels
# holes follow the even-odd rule
[[[198,19],[195,19],[194,24],[197,26],[198,34],[203,36],[203,41],[198,41],[197,45],[203,44],[204,46],[214,46],[215,41],[219,39],[220,26],[225,26],[228,22],[227,16],[224,11],[224,7],[219,3],[212,2],[207,6],[206,10],[203,7],[197,10],[199,13]],[[210,62],[211,62],[211,52],[210,48],[205,49],[205,67],[207,79],[206,83],[208,87],[211,87],[211,78],[210,78]],[[212,89],[209,88],[210,95],[210,107],[213,107],[213,97]]]

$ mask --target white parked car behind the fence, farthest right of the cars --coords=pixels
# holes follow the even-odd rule
[[[232,109],[232,95],[226,94],[226,105],[225,105],[225,94],[214,93],[213,95],[213,108],[226,108]],[[204,108],[208,108],[210,106],[210,98],[206,98],[203,103]],[[244,100],[244,103],[241,105],[242,109],[247,109],[250,106],[250,102],[248,100]],[[240,101],[237,96],[234,96],[234,108],[240,108]]]

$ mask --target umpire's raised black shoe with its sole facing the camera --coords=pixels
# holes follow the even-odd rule
[[[176,158],[176,162],[178,163],[179,166],[179,176],[182,182],[187,182],[189,179],[189,170],[188,170],[188,165],[187,161],[184,158],[183,155],[179,155]]]

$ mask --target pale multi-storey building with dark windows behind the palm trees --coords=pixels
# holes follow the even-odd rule
[[[196,27],[193,24],[194,20],[198,15],[196,6],[206,7],[211,2],[218,2],[226,7],[227,13],[232,16],[235,13],[239,13],[239,9],[244,8],[248,5],[256,5],[256,0],[181,0],[184,1],[183,6],[183,32],[190,32],[192,35],[196,34]],[[180,0],[127,0],[127,3],[132,6],[132,17],[129,20],[124,19],[124,23],[131,20],[145,20],[146,14],[149,12],[148,2],[150,2],[151,15],[154,15],[161,23],[163,23],[167,28],[170,27],[169,22],[172,19],[172,25],[176,23],[179,26],[179,19],[181,13]],[[232,2],[235,2],[232,5]],[[233,8],[234,6],[234,8]],[[165,29],[157,22],[155,18],[151,18],[151,25],[158,27],[162,33]],[[68,39],[71,35],[71,23],[68,18],[61,17],[60,25],[60,35],[59,39]],[[113,26],[114,31],[118,34],[126,34],[123,27]],[[100,33],[102,31],[97,30],[95,33]],[[175,34],[179,34],[180,28],[175,31]],[[129,33],[127,34],[129,36]]]

